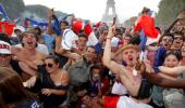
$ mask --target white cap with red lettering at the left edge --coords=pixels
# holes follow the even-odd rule
[[[0,54],[11,54],[11,45],[8,42],[0,41]]]

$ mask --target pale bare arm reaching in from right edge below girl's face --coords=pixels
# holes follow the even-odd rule
[[[158,68],[161,72],[169,75],[169,76],[178,76],[185,71],[185,66],[177,66],[174,68],[159,66]]]

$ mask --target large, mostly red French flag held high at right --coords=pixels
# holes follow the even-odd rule
[[[136,21],[134,27],[134,33],[139,32],[140,36],[140,60],[146,59],[146,45],[158,42],[160,33],[155,26],[155,16],[156,13],[150,11],[148,14],[143,14]]]

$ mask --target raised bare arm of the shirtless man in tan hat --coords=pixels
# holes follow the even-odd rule
[[[119,71],[121,70],[121,65],[111,60],[111,38],[114,36],[114,32],[115,26],[110,27],[107,36],[102,62],[103,65],[108,67],[113,73],[119,73]]]

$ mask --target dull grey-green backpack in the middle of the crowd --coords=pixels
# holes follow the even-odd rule
[[[70,76],[70,84],[73,86],[81,86],[89,79],[89,71],[92,65],[87,64],[85,59],[70,66],[67,72]]]

